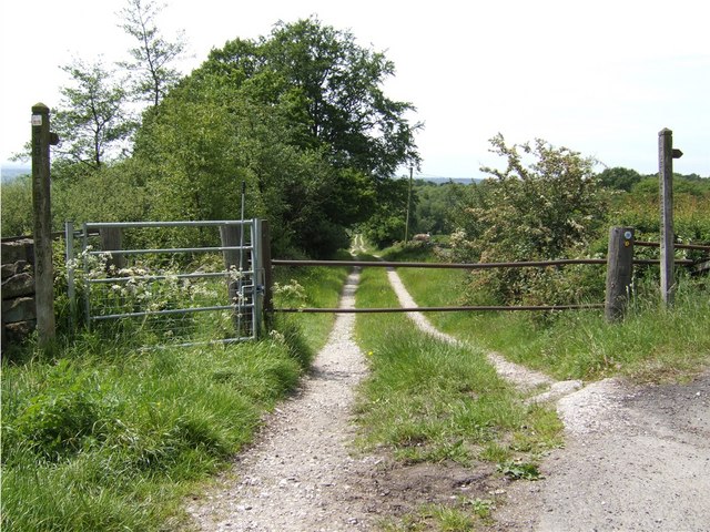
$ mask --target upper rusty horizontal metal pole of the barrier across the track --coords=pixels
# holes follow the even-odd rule
[[[570,264],[607,264],[606,258],[564,258],[559,260],[524,260],[516,263],[394,263],[385,260],[284,260],[275,259],[274,266],[374,266],[381,268],[527,268],[546,266],[566,266]]]

